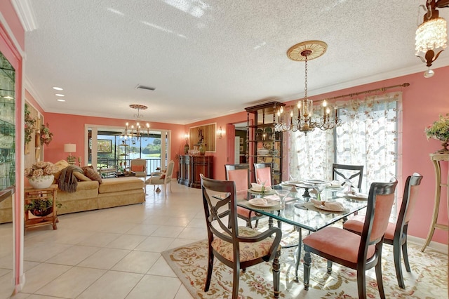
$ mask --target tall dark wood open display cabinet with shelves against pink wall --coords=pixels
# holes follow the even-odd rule
[[[274,184],[282,181],[282,132],[274,131],[276,111],[285,104],[267,102],[247,107],[246,161],[255,182],[254,163],[271,163]]]

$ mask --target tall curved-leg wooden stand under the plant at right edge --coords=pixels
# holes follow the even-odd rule
[[[448,215],[449,215],[449,171],[446,174],[446,182],[441,182],[441,162],[449,161],[449,154],[430,154],[430,159],[434,164],[435,168],[435,204],[434,204],[434,216],[432,217],[432,223],[430,226],[429,234],[427,234],[426,242],[424,246],[422,246],[421,251],[429,246],[432,237],[434,236],[435,229],[438,228],[440,230],[449,230],[449,226],[447,224],[438,223],[438,211],[440,209],[440,197],[441,197],[441,187],[446,188],[446,201],[448,204]]]

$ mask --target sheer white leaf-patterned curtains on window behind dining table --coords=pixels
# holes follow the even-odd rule
[[[363,165],[362,190],[371,182],[401,182],[402,93],[370,95],[337,102],[342,126],[334,130],[289,132],[290,175],[300,179],[332,178],[332,164]],[[401,188],[398,188],[401,189]]]

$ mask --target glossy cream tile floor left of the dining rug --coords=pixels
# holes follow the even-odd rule
[[[192,298],[161,252],[207,238],[201,190],[175,182],[172,190],[164,198],[148,186],[145,204],[27,230],[26,283],[13,298]]]

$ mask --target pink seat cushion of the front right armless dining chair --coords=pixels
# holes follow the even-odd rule
[[[353,232],[337,227],[325,227],[323,230],[309,234],[302,241],[318,251],[357,263],[360,240],[361,237]],[[373,257],[374,253],[375,245],[368,246],[367,259]]]

